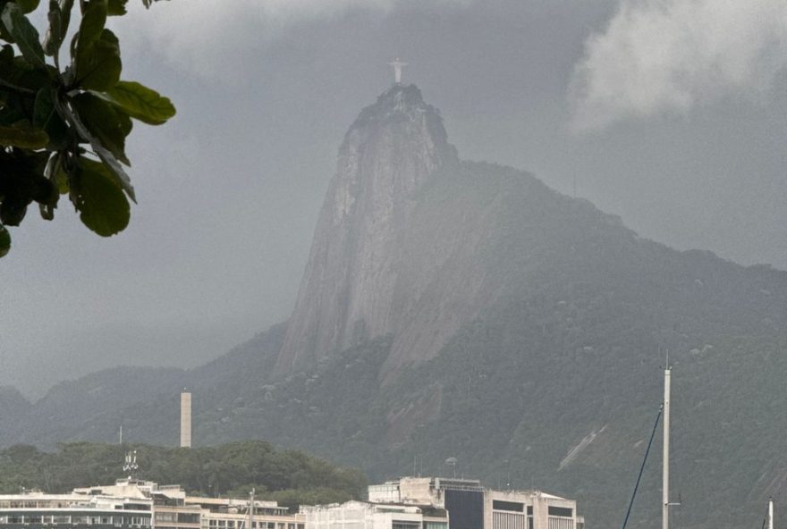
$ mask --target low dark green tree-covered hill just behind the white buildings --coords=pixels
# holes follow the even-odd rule
[[[177,483],[191,494],[277,500],[296,509],[358,499],[366,478],[357,470],[334,466],[297,450],[275,449],[266,441],[239,441],[215,447],[175,449],[151,445],[95,442],[62,444],[56,452],[30,445],[0,450],[0,492],[21,487],[67,492],[75,487],[111,484],[122,472],[128,450],[137,451],[137,477]]]

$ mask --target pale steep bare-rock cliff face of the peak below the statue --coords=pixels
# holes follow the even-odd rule
[[[359,340],[402,334],[397,305],[412,292],[402,291],[399,250],[415,196],[456,161],[439,113],[415,86],[396,85],[360,113],[339,149],[277,373]]]

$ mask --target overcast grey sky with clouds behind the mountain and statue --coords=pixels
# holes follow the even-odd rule
[[[467,159],[574,189],[640,235],[787,269],[783,0],[132,0],[139,204],[100,239],[67,201],[0,260],[0,384],[198,365],[283,321],[336,149],[395,55]]]

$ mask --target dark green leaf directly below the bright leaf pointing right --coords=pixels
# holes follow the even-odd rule
[[[101,145],[123,164],[131,165],[124,152],[126,136],[131,132],[131,118],[89,92],[73,97],[72,106]]]

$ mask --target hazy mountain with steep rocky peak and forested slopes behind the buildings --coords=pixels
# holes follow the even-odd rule
[[[372,480],[455,457],[610,525],[667,349],[674,516],[758,524],[787,486],[787,273],[667,248],[527,172],[463,161],[418,88],[394,86],[340,148],[288,323],[186,372],[102,372],[34,404],[0,392],[16,403],[0,441],[112,441],[122,423],[174,443],[187,386],[196,443],[262,437]],[[631,526],[658,516],[659,479],[649,467]]]

